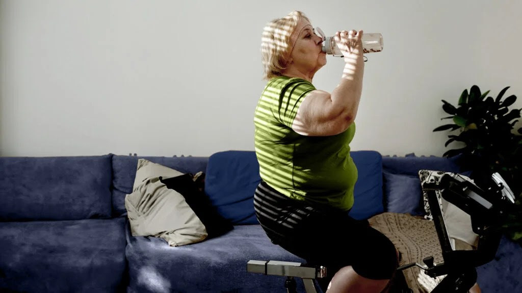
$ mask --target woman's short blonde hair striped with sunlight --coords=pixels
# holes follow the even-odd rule
[[[285,17],[268,22],[263,29],[261,58],[264,79],[281,76],[281,72],[287,68],[292,51],[290,36],[302,19],[310,22],[301,11],[294,10]]]

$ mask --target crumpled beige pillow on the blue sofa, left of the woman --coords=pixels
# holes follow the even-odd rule
[[[154,236],[165,239],[170,246],[182,246],[207,238],[205,225],[185,198],[168,189],[159,177],[171,178],[183,173],[138,160],[133,192],[125,196],[125,208],[133,236]]]

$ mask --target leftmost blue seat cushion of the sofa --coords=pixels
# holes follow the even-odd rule
[[[116,292],[125,219],[0,223],[0,291]]]

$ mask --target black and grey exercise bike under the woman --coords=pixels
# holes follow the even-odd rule
[[[504,179],[498,173],[491,176],[490,182],[481,187],[458,175],[445,173],[440,180],[429,180],[422,185],[426,190],[428,203],[433,216],[435,230],[442,249],[443,262],[435,264],[433,256],[421,263],[410,263],[397,268],[402,272],[418,266],[430,277],[446,275],[431,293],[465,293],[477,282],[477,266],[492,261],[500,244],[502,234],[496,227],[498,219],[509,211],[515,203],[515,197]],[[447,233],[442,204],[444,201],[454,204],[469,214],[471,227],[478,235],[478,244],[473,250],[456,250]],[[324,266],[306,266],[302,263],[284,261],[250,260],[247,271],[265,275],[286,276],[284,286],[288,293],[296,293],[295,278],[303,279],[306,293],[315,293],[314,279],[327,274]],[[400,293],[411,292],[409,288],[400,289]],[[390,292],[395,293],[395,292]]]

